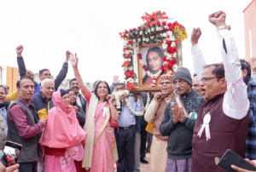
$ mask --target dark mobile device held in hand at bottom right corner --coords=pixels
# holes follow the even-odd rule
[[[251,163],[248,163],[244,158],[241,158],[235,152],[232,152],[230,149],[224,153],[224,156],[220,158],[216,164],[229,172],[236,172],[235,169],[231,168],[231,165],[236,165],[236,167],[241,169],[252,171],[256,170],[256,167],[254,167]]]

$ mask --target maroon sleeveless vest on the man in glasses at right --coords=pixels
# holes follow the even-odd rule
[[[214,158],[221,158],[227,149],[244,158],[249,111],[242,119],[230,118],[223,112],[223,100],[224,95],[217,95],[213,100],[207,100],[198,113],[192,140],[193,172],[225,171],[216,165]],[[209,124],[210,140],[206,139],[205,130],[201,138],[197,135],[208,112],[212,118]]]

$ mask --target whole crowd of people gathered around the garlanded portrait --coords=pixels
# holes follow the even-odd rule
[[[192,77],[185,67],[173,75],[162,74],[159,93],[124,94],[119,98],[119,110],[113,91],[122,92],[126,87],[118,77],[113,77],[111,87],[97,80],[90,91],[80,75],[77,54],[67,51],[55,80],[49,69],[42,69],[41,82],[36,83],[33,72],[26,70],[23,46],[17,47],[17,90],[9,94],[8,87],[0,85],[0,151],[7,140],[23,149],[17,164],[9,166],[2,158],[0,172],[140,171],[140,163],[148,163],[147,123],[153,123],[154,128],[152,172],[225,171],[215,158],[221,158],[228,149],[254,165],[256,59],[239,60],[225,19],[223,11],[209,15],[210,23],[217,27],[223,63],[207,65],[198,43],[201,29],[194,29],[195,75]],[[75,77],[69,89],[59,89],[68,61]],[[143,116],[131,112],[130,106],[143,112],[148,100]]]

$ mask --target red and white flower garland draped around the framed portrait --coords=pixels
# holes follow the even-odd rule
[[[127,89],[136,89],[135,80],[137,78],[136,73],[133,71],[133,55],[136,51],[137,57],[141,66],[148,77],[153,78],[151,87],[156,87],[156,79],[162,72],[173,73],[177,71],[177,47],[188,37],[185,27],[177,23],[166,23],[165,12],[155,12],[153,14],[145,14],[142,17],[146,22],[142,25],[129,31],[120,32],[119,35],[125,40],[124,43],[124,63],[122,67],[125,70],[125,83],[127,83]],[[162,20],[162,21],[160,21]],[[148,71],[145,61],[142,58],[142,54],[139,52],[137,45],[160,43],[165,56],[162,58],[164,64],[160,71],[152,74]]]

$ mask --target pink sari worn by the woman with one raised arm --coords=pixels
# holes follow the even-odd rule
[[[113,146],[115,137],[113,128],[107,124],[107,127],[102,131],[102,125],[105,123],[107,115],[104,115],[104,107],[108,107],[108,102],[103,102],[96,106],[95,114],[95,140],[102,132],[102,135],[96,141],[93,147],[93,155],[90,172],[114,171],[113,166]]]

